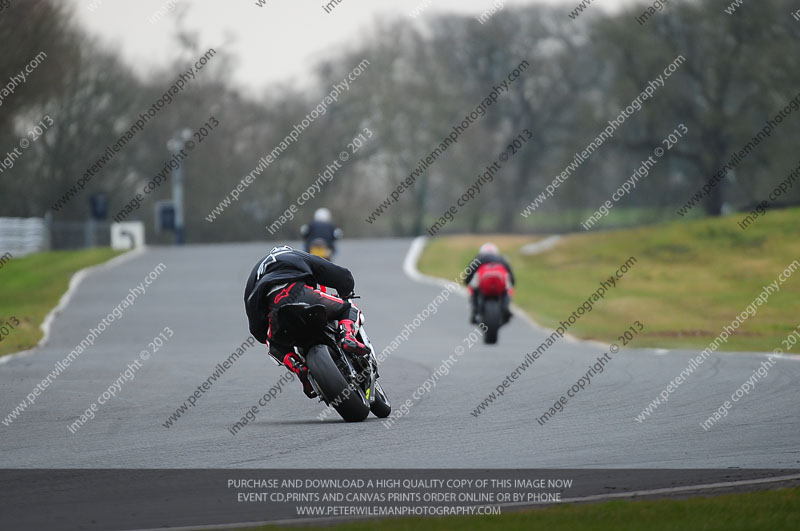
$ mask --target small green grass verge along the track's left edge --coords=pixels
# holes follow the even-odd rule
[[[0,340],[0,356],[34,347],[42,338],[45,316],[67,291],[72,275],[119,254],[105,247],[49,251],[6,263],[0,269],[0,325],[5,325],[8,335]]]

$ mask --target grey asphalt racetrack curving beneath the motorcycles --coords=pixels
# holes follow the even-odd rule
[[[350,241],[337,261],[352,269],[360,307],[377,350],[386,347],[442,292],[408,278],[408,240]],[[296,381],[260,407],[236,435],[229,428],[284,374],[260,345],[249,348],[170,428],[164,423],[245,341],[244,281],[267,245],[150,248],[89,275],[54,321],[50,340],[0,365],[7,415],[54,364],[86,337],[150,271],[167,269],[78,360],[9,426],[0,426],[3,468],[793,468],[800,463],[800,363],[777,360],[727,418],[700,423],[730,399],[767,358],[723,353],[708,359],[667,404],[636,416],[697,353],[628,350],[545,425],[537,417],[566,393],[598,356],[592,343],[553,345],[477,418],[473,409],[544,338],[516,318],[497,346],[468,347],[474,329],[466,300],[453,294],[381,365],[384,389],[409,413],[391,428],[370,416],[321,421],[324,404]],[[635,274],[632,272],[631,274]],[[602,311],[602,303],[596,311]],[[71,433],[68,426],[118,380],[165,327],[166,345],[142,362],[116,398]],[[621,331],[622,332],[622,331]],[[449,374],[419,400],[412,393],[453,355]]]

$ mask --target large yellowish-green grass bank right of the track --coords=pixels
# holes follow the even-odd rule
[[[556,248],[523,256],[519,236],[432,240],[420,260],[426,274],[452,279],[481,243],[495,241],[517,275],[515,302],[555,328],[630,256],[638,263],[570,333],[618,342],[633,321],[645,325],[636,347],[705,348],[761,292],[800,260],[800,209],[770,212],[747,230],[740,215],[565,237]],[[749,317],[724,350],[772,351],[800,324],[800,271]]]

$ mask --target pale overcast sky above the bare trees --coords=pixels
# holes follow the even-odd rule
[[[71,0],[78,22],[116,48],[140,73],[162,66],[175,55],[175,14],[186,10],[184,26],[196,30],[201,46],[224,48],[237,57],[239,84],[260,91],[271,82],[298,82],[320,58],[357,44],[376,17],[405,17],[428,4],[424,16],[441,12],[479,14],[498,0]],[[505,0],[505,5],[559,4],[580,0]],[[613,9],[629,0],[595,0],[589,9]],[[159,9],[177,6],[161,20]],[[231,37],[235,40],[231,41]]]

